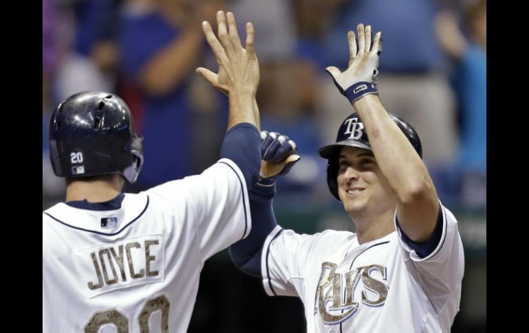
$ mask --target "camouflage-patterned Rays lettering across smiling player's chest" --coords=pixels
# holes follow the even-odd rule
[[[314,314],[319,312],[324,323],[334,325],[346,321],[357,312],[359,306],[383,306],[387,297],[387,269],[380,265],[363,266],[336,273],[337,264],[324,262],[316,289]],[[355,290],[361,285],[361,299],[354,299]],[[359,303],[361,301],[361,303]]]

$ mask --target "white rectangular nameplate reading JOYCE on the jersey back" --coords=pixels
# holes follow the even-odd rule
[[[164,238],[161,235],[98,245],[76,253],[90,297],[110,290],[164,279]]]

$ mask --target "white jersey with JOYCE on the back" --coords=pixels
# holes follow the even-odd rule
[[[228,159],[120,209],[58,203],[43,212],[43,332],[185,332],[205,260],[250,228]]]

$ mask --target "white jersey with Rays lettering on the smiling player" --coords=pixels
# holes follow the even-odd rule
[[[261,269],[270,296],[300,297],[307,332],[450,332],[459,310],[463,246],[442,207],[442,237],[420,258],[400,229],[359,245],[347,231],[299,235],[275,227]]]

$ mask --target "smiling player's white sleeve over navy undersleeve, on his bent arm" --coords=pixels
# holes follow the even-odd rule
[[[264,241],[261,256],[262,283],[269,296],[302,296],[304,267],[311,264],[317,235],[300,235],[292,230],[273,229]]]

